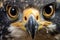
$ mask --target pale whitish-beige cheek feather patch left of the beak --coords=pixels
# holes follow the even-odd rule
[[[8,28],[8,31],[10,31],[11,33],[10,33],[10,35],[12,36],[12,37],[22,37],[22,36],[26,36],[25,34],[25,31],[23,31],[23,30],[21,30],[21,29],[19,29],[19,28],[16,28],[16,27],[13,27],[13,26],[10,26],[9,28]]]

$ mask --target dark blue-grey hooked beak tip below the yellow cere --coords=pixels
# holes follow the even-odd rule
[[[31,34],[32,39],[34,39],[35,33],[38,30],[38,23],[36,22],[33,16],[30,16],[25,27],[27,28],[28,33]]]

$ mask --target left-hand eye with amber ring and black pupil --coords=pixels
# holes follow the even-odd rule
[[[10,19],[17,19],[18,18],[18,9],[16,7],[8,7],[7,10],[8,16],[10,17]]]

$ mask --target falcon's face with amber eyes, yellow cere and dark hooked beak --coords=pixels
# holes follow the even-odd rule
[[[0,2],[3,35],[21,37],[25,32],[34,38],[37,31],[45,28],[56,30],[55,0],[4,0]],[[58,18],[57,18],[58,19]],[[4,33],[5,32],[5,33]]]

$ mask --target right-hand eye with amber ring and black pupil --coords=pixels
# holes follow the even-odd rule
[[[52,5],[46,6],[43,9],[43,16],[46,18],[52,17],[54,14],[54,7]]]

